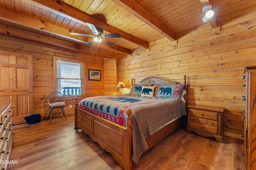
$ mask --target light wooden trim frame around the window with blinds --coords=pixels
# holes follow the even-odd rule
[[[70,59],[70,58],[63,58],[63,57],[58,57],[58,56],[53,56],[53,62],[52,62],[52,65],[53,65],[53,89],[54,91],[57,91],[58,88],[57,88],[57,60],[61,60],[61,61],[64,61],[64,62],[76,62],[76,63],[81,63],[83,68],[82,68],[82,89],[81,89],[81,94],[76,94],[76,95],[65,95],[65,99],[73,99],[75,96],[79,97],[79,96],[84,96],[85,95],[85,83],[84,83],[84,80],[85,80],[85,64],[84,64],[84,60],[77,60],[77,59]]]

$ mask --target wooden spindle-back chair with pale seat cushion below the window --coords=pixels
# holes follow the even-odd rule
[[[48,119],[50,119],[50,123],[51,123],[53,114],[63,114],[63,116],[67,120],[67,117],[64,111],[64,107],[66,106],[66,104],[64,103],[65,102],[64,95],[60,92],[52,92],[48,95],[47,100],[48,100],[49,108],[51,109],[50,114],[48,116]],[[54,108],[61,108],[62,112],[52,113]]]

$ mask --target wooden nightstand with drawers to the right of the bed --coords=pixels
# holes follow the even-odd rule
[[[215,138],[222,142],[223,107],[190,104],[188,108],[188,127],[186,132],[195,132],[203,137]]]

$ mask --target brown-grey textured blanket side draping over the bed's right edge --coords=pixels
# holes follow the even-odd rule
[[[140,156],[148,148],[145,137],[154,134],[162,125],[176,117],[186,115],[184,102],[174,98],[165,102],[131,106],[130,109],[132,110],[132,160],[135,163],[138,163]]]

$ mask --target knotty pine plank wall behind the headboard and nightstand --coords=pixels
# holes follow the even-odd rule
[[[182,82],[187,76],[186,104],[222,106],[224,135],[243,134],[242,86],[245,66],[256,65],[256,20],[234,20],[212,29],[204,24],[176,42],[162,39],[128,57],[118,57],[118,81],[130,84],[147,76],[161,76]]]

